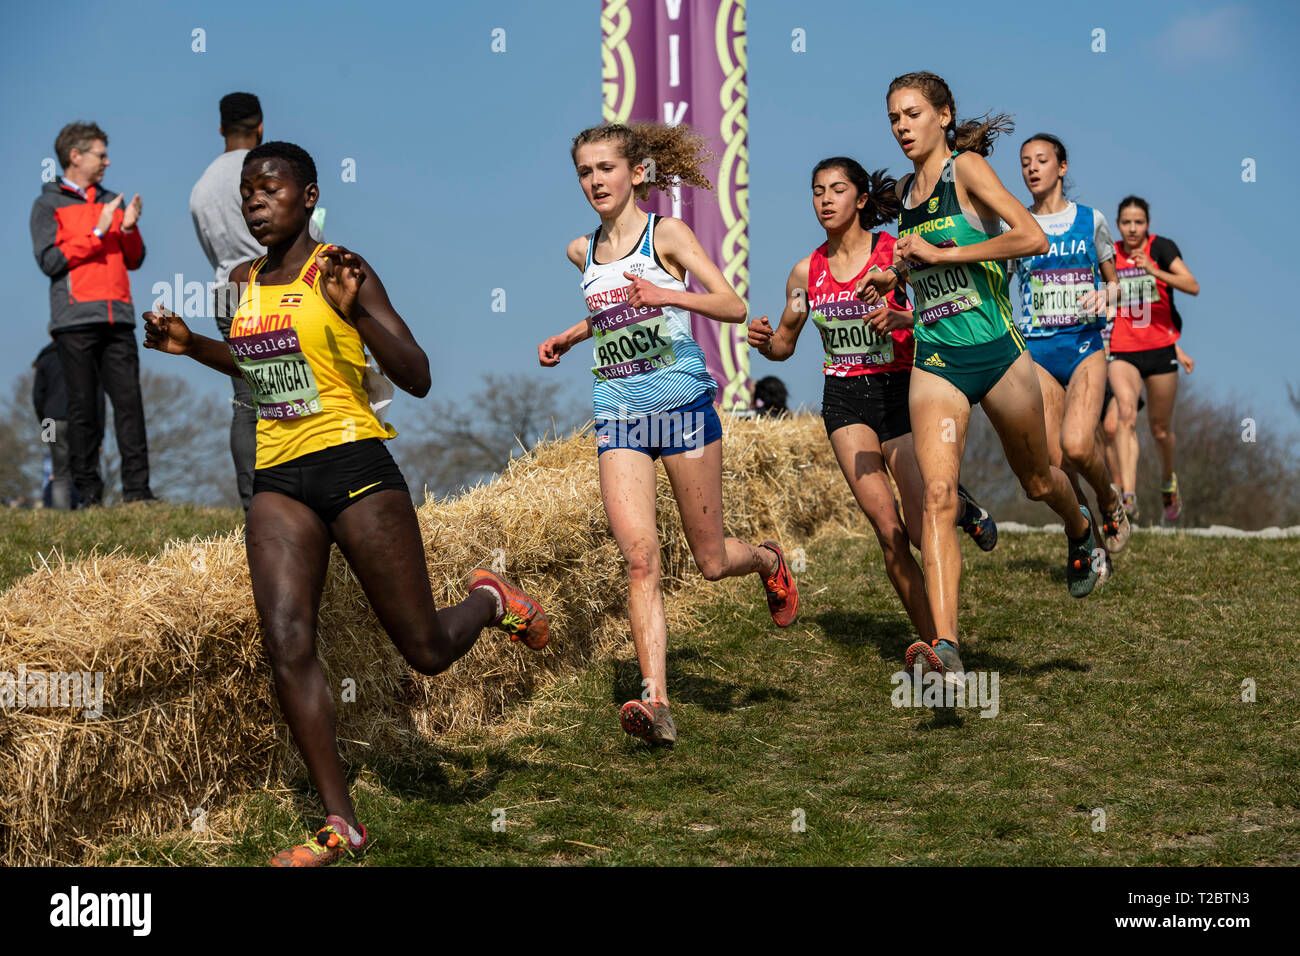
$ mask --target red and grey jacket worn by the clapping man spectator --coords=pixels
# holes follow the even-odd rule
[[[31,206],[31,246],[36,264],[49,276],[49,330],[77,325],[134,325],[127,269],[144,263],[139,228],[122,232],[124,209],[96,238],[104,204],[117,194],[90,186],[86,199],[64,182],[47,182]]]

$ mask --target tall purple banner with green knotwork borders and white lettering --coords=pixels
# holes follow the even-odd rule
[[[601,87],[606,122],[686,124],[716,159],[714,191],[680,187],[650,194],[647,207],[684,220],[736,293],[749,304],[749,120],[745,0],[601,0]],[[688,276],[693,293],[706,291]],[[723,411],[748,411],[745,324],[697,315],[690,332],[718,382]]]

